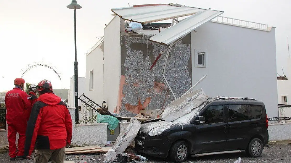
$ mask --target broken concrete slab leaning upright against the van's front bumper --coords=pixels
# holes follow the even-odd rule
[[[139,129],[141,128],[141,122],[132,117],[129,121],[127,128],[118,135],[116,142],[112,149],[116,151],[116,154],[123,153],[128,145],[134,140]]]

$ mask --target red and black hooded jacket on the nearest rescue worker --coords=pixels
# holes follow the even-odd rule
[[[33,105],[26,129],[24,155],[31,155],[36,149],[60,149],[71,144],[72,119],[61,98],[45,93]]]

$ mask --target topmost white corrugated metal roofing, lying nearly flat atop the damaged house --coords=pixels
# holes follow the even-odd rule
[[[193,15],[205,9],[188,6],[176,7],[166,4],[139,5],[125,8],[111,9],[120,18],[138,23],[152,23]]]

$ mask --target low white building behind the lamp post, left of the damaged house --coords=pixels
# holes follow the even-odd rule
[[[71,77],[71,80],[70,80],[70,90],[68,90],[68,107],[75,107],[75,96],[74,96],[74,92],[75,92],[75,77],[74,75]],[[86,78],[78,78],[78,94],[80,97],[82,94],[84,94],[86,92],[86,87],[85,87],[85,84],[86,84]],[[83,120],[82,119],[82,115],[81,115],[81,111],[83,111],[83,108],[82,108],[82,104],[81,104],[81,101],[79,101],[79,120]]]

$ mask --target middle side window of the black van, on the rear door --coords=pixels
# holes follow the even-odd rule
[[[228,105],[229,121],[236,122],[241,120],[248,120],[248,106],[247,105]]]

